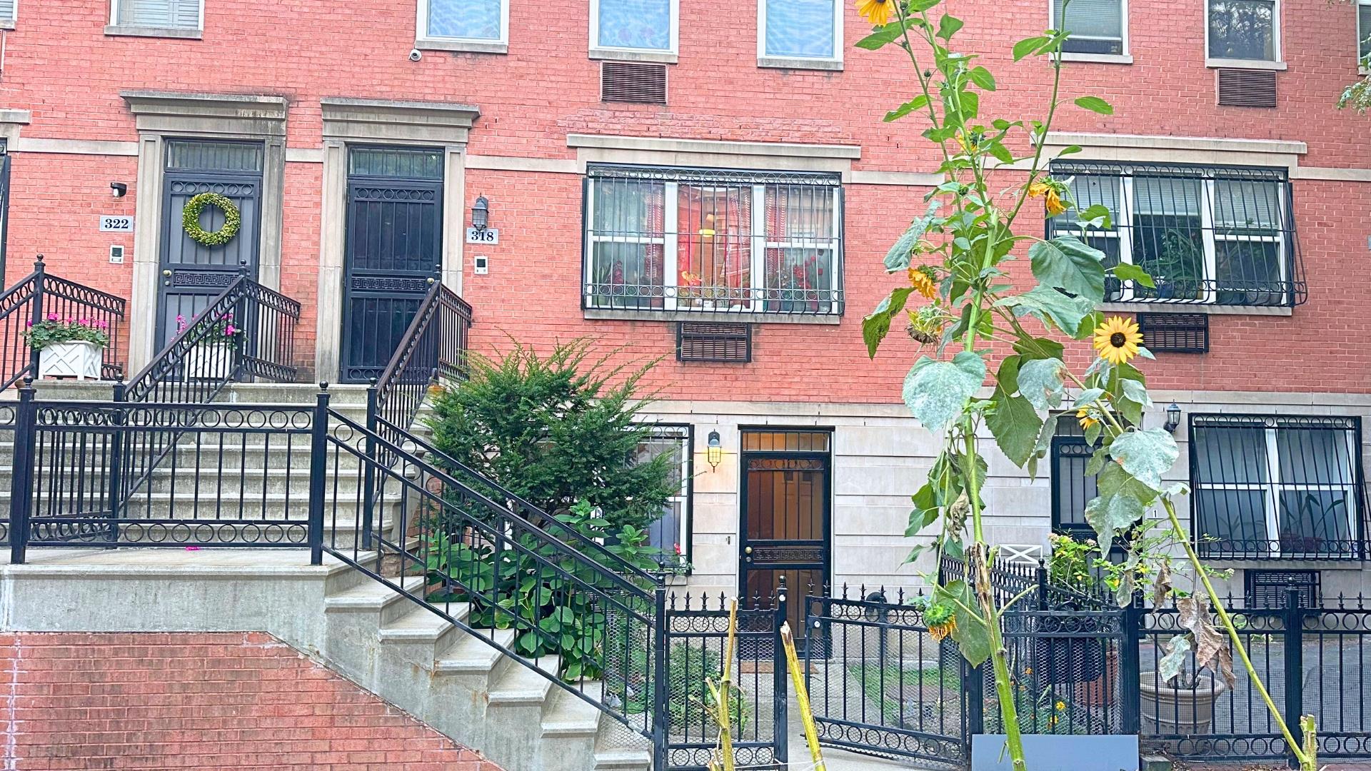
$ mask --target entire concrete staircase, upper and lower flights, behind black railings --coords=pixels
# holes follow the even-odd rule
[[[40,383],[40,401],[108,401],[108,384],[97,383]],[[318,388],[310,384],[239,384],[228,388],[219,402],[230,405],[313,405]],[[359,386],[329,388],[330,406],[339,413],[365,423],[366,390]],[[422,417],[422,416],[421,416]],[[422,420],[418,421],[422,424]],[[418,431],[422,431],[420,428]],[[280,451],[273,450],[271,468],[266,465],[267,435],[259,439],[219,444],[185,438],[180,442],[174,462],[169,458],[151,475],[144,493],[130,501],[129,514],[208,519],[207,506],[241,512],[244,517],[265,520],[302,520],[302,509],[308,499],[308,443],[304,451],[292,453],[288,465]],[[0,442],[0,506],[8,509],[11,488],[11,460],[14,444],[10,436]],[[306,436],[307,439],[307,436]],[[333,543],[356,546],[359,531],[359,477],[356,464],[339,465],[330,472],[329,502],[330,527],[339,534]],[[215,479],[214,488],[203,482],[207,462],[226,464],[241,479]],[[92,472],[97,458],[85,464]],[[41,464],[40,464],[41,466]],[[197,477],[197,475],[200,475]],[[383,506],[396,508],[403,502],[393,495],[383,499]],[[396,516],[377,516],[377,521],[393,527]],[[389,536],[395,532],[383,531]],[[30,554],[41,550],[30,547]],[[104,550],[85,550],[99,554]],[[121,547],[107,554],[126,558],[134,549]],[[154,560],[174,558],[180,551],[137,550]],[[206,554],[202,550],[193,554]],[[229,550],[214,550],[213,558]],[[243,553],[243,550],[233,550]],[[258,550],[260,554],[263,550]],[[277,551],[280,553],[280,551]],[[291,554],[303,551],[289,550]],[[359,553],[358,561],[365,562]],[[330,560],[332,561],[332,560]],[[452,621],[466,621],[465,604],[446,608],[451,620],[420,605],[410,597],[372,579],[345,564],[332,561],[315,609],[324,623],[296,620],[262,620],[265,628],[306,653],[319,657],[330,668],[376,693],[400,709],[452,739],[481,750],[506,771],[639,771],[651,766],[650,744],[636,731],[605,716],[596,707],[555,685],[546,672],[557,672],[555,660],[540,660],[535,671],[502,654],[489,642],[511,645],[510,630],[465,631]],[[25,565],[27,567],[27,565]],[[162,580],[170,580],[163,578]],[[406,582],[407,590],[421,589],[424,578],[392,579]],[[228,589],[228,584],[225,584]],[[233,597],[223,601],[233,602]],[[322,604],[322,606],[318,606]],[[298,612],[310,612],[304,608]],[[117,620],[112,623],[118,623]],[[200,626],[213,626],[206,620]],[[281,630],[313,628],[314,632]],[[130,630],[136,631],[136,630]],[[171,631],[171,630],[165,630]],[[213,631],[185,628],[175,631]],[[595,694],[599,683],[580,683],[587,694]]]

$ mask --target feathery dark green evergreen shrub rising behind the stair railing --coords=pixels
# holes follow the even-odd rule
[[[638,369],[591,358],[591,342],[555,346],[546,357],[515,343],[503,358],[469,355],[469,377],[433,396],[439,450],[550,514],[580,499],[609,527],[646,528],[679,486],[672,458],[635,462],[653,425],[651,394]]]

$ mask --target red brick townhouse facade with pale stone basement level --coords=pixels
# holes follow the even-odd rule
[[[441,280],[474,306],[484,353],[590,336],[665,358],[648,386],[670,425],[653,450],[680,451],[684,482],[657,539],[692,567],[683,580],[917,582],[908,497],[935,439],[898,403],[914,346],[897,333],[871,362],[860,322],[899,280],[880,258],[936,161],[917,121],[882,121],[908,99],[905,70],[894,49],[853,48],[866,26],[849,5],[0,3],[7,283],[44,252],[128,296],[136,369],[241,262],[303,302],[302,366],[365,381]],[[1053,4],[982,5],[947,8],[999,78],[986,111],[1023,117],[1049,73],[1009,49]],[[1116,112],[1064,110],[1047,144],[1080,145],[1057,173],[1116,213],[1097,246],[1169,274],[1109,310],[1148,314],[1146,421],[1179,406],[1172,477],[1201,490],[1206,550],[1241,568],[1238,594],[1290,578],[1271,569],[1366,590],[1371,353],[1353,309],[1371,132],[1333,102],[1371,5],[1090,7],[1065,93]],[[1253,106],[1270,91],[1237,81],[1276,96]],[[203,191],[243,211],[213,251],[180,225]],[[465,237],[478,196],[498,241]],[[101,232],[106,215],[133,232]],[[990,536],[1036,558],[1079,527],[1080,449],[1063,435],[1035,480],[991,453]]]

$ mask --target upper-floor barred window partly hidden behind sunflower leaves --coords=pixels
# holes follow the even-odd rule
[[[1106,300],[1294,306],[1307,299],[1282,169],[1057,162],[1082,210],[1101,204],[1109,228],[1080,230],[1075,214],[1047,221],[1049,236],[1075,235],[1105,263],[1138,265],[1156,281],[1106,281]]]

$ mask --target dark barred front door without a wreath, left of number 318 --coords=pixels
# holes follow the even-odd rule
[[[443,151],[348,151],[341,380],[391,361],[443,268]]]

